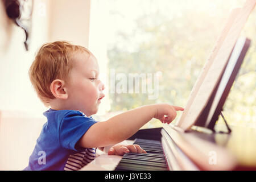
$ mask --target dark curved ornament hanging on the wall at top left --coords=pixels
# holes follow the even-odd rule
[[[28,51],[34,0],[3,0],[3,2],[7,16],[13,19],[14,23],[24,30],[26,34],[24,46],[26,51]]]

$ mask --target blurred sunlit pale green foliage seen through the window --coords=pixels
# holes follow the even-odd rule
[[[115,39],[108,49],[109,68],[115,69],[115,73],[128,75],[161,71],[163,75],[159,80],[159,97],[148,100],[147,94],[142,93],[110,94],[112,111],[130,110],[160,102],[185,106],[201,68],[228,18],[230,5],[241,3],[214,1],[214,12],[209,13],[207,3],[210,1],[186,1],[188,5],[184,9],[176,1],[167,2],[170,5],[169,11],[174,12],[168,14],[166,11],[153,9],[149,13],[141,13],[134,19],[135,28],[129,31],[117,28]],[[129,16],[116,8],[113,17],[119,16],[122,19]],[[176,8],[183,11],[175,11]],[[249,123],[247,125],[255,125],[255,10],[251,13],[242,35],[250,38],[252,43],[224,106],[224,115],[230,124],[245,125],[246,122]],[[147,125],[155,126],[160,124],[154,119]]]

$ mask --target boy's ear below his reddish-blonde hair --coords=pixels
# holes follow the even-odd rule
[[[60,79],[53,80],[50,86],[51,92],[54,97],[60,98],[60,99],[67,99],[68,98],[68,92],[65,88],[64,81]]]

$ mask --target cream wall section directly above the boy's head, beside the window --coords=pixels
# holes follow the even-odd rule
[[[51,1],[49,19],[49,40],[68,40],[88,48],[89,39],[89,0]]]

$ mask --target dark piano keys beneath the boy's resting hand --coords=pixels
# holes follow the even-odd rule
[[[127,153],[119,162],[115,171],[167,171],[168,165],[161,142],[157,140],[135,139],[147,154]]]

